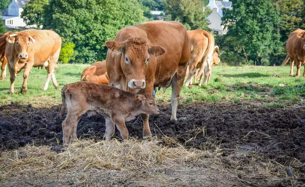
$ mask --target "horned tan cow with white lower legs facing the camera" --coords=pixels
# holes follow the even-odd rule
[[[41,90],[47,90],[51,78],[54,87],[59,88],[54,72],[61,48],[61,38],[58,34],[52,30],[29,29],[11,34],[6,40],[8,43],[5,54],[11,75],[9,93],[14,93],[15,77],[22,69],[24,72],[21,93],[27,92],[27,77],[32,67],[47,69],[47,80]]]

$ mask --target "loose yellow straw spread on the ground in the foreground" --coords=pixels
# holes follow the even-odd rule
[[[197,132],[197,131],[196,131]],[[175,140],[166,137],[170,144]],[[163,142],[165,142],[163,140]],[[177,144],[176,144],[177,145]],[[81,140],[64,152],[26,145],[0,157],[0,186],[269,186],[296,183],[286,167],[255,155],[165,147],[157,140]],[[243,163],[245,158],[249,163]],[[241,159],[239,159],[241,158]],[[240,167],[243,167],[240,170]],[[295,185],[294,185],[295,186]]]

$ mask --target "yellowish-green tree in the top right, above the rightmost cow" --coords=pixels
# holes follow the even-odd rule
[[[281,41],[285,42],[289,34],[302,26],[303,0],[272,0],[280,13],[279,29]]]

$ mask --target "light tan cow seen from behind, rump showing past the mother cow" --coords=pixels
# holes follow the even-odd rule
[[[204,84],[209,82],[209,74],[211,71],[215,40],[214,37],[205,30],[190,30],[188,35],[191,39],[191,60],[189,62],[189,76],[185,81],[185,86],[191,83],[196,71],[200,72],[204,68]],[[199,69],[199,70],[198,70]],[[199,86],[202,83],[202,75],[200,77]]]

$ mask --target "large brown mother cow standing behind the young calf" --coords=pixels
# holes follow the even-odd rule
[[[156,93],[172,85],[171,120],[177,120],[177,106],[185,72],[191,56],[185,27],[175,21],[150,21],[122,28],[109,48],[106,68],[108,85],[134,93]],[[143,138],[151,137],[148,118],[141,115]]]

